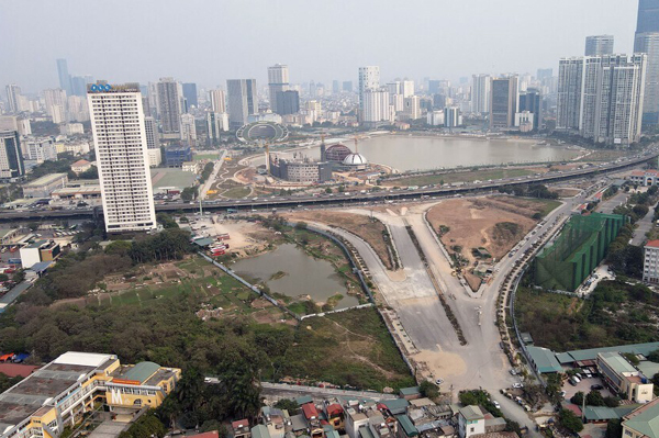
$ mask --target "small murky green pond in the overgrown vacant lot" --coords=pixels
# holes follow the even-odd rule
[[[335,308],[359,304],[355,296],[346,293],[345,280],[332,263],[314,259],[293,244],[282,244],[272,251],[236,261],[232,269],[238,276],[264,281],[272,292],[291,297],[310,295],[314,302],[325,303],[340,293],[344,297]],[[278,272],[286,274],[272,278]]]

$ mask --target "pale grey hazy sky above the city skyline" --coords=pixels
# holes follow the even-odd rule
[[[613,34],[632,50],[637,0],[0,0],[0,86],[57,87],[72,75],[112,82],[171,76],[201,87],[288,64],[292,82],[394,77],[456,80],[533,72]]]

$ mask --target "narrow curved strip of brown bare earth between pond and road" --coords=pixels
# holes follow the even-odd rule
[[[389,270],[393,269],[387,244],[382,237],[386,226],[380,221],[371,221],[370,217],[344,212],[306,211],[283,214],[289,221],[309,221],[336,226],[346,229],[366,240],[375,250],[382,265]]]

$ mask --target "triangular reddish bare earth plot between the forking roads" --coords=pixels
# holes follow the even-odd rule
[[[455,199],[432,207],[427,218],[435,231],[449,228],[442,243],[449,254],[461,247],[460,255],[473,267],[477,258],[472,248],[483,247],[499,260],[535,226],[538,221],[533,215],[546,207],[544,201],[511,196]],[[480,278],[469,270],[465,277],[472,289],[478,289]]]

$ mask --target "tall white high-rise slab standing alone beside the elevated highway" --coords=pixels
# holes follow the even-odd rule
[[[105,231],[154,229],[156,212],[139,87],[99,83],[87,90]]]

